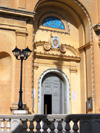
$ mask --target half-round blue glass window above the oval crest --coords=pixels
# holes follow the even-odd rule
[[[42,26],[65,29],[63,23],[56,17],[47,17],[46,19],[44,19]]]

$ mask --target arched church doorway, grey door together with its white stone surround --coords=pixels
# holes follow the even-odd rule
[[[38,113],[69,114],[69,80],[63,71],[55,68],[44,71],[38,81]]]

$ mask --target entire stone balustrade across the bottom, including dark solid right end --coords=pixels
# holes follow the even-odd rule
[[[100,115],[0,115],[0,133],[35,132],[100,132]]]

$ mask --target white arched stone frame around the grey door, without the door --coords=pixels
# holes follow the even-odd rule
[[[43,77],[47,73],[50,73],[50,72],[58,74],[64,81],[64,94],[66,94],[64,96],[64,104],[65,104],[64,114],[70,114],[70,83],[69,83],[69,79],[63,71],[61,71],[59,69],[55,69],[55,68],[45,70],[39,78],[39,81],[38,81],[38,114],[44,114],[43,103],[42,103],[43,102],[43,100],[42,100],[42,80],[43,80]]]

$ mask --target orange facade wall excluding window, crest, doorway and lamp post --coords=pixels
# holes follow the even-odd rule
[[[0,113],[11,113],[18,103],[20,61],[12,54],[15,46],[33,50],[23,66],[23,102],[30,113],[38,112],[38,79],[48,68],[61,69],[68,76],[71,113],[100,112],[99,7],[99,0],[0,0]],[[59,17],[66,25],[63,33],[42,26],[49,15]],[[51,48],[47,53],[44,48],[42,42],[50,43],[52,36],[58,36],[60,43],[66,44],[63,60],[59,58],[59,49]],[[79,58],[71,57],[75,56],[72,48]],[[36,89],[34,99],[33,89]],[[72,99],[72,92],[76,92],[76,100]],[[87,109],[88,97],[92,97],[91,111]]]

